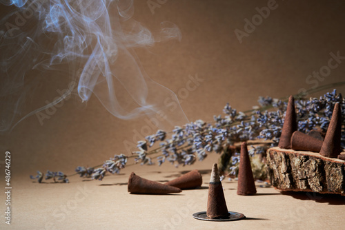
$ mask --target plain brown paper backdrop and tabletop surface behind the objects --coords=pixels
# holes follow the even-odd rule
[[[150,12],[147,1],[135,1],[135,20],[152,31],[159,28],[161,21],[171,21],[182,34],[181,42],[168,41],[167,45],[159,43],[152,48],[137,49],[137,55],[147,74],[177,95],[186,87],[189,75],[197,74],[203,80],[195,91],[181,100],[189,121],[212,121],[213,115],[221,114],[227,102],[241,111],[257,105],[258,96],[281,98],[296,94],[301,88],[313,86],[306,82],[306,77],[327,65],[330,52],[339,51],[345,56],[345,3],[277,1],[277,4],[277,9],[271,10],[269,17],[240,44],[234,30],[244,30],[244,19],[251,19],[257,14],[255,8],[267,6],[267,1],[168,0],[161,8],[155,8],[155,14]],[[1,6],[1,12],[6,11],[8,8]],[[344,70],[345,61],[331,70],[319,85],[344,81]],[[46,99],[52,100],[57,96],[56,90],[66,85],[68,79],[57,81],[52,77],[33,96],[37,104],[34,100],[30,107],[39,107]],[[337,92],[344,95],[344,89],[338,87]],[[71,229],[97,226],[101,229],[164,229],[162,221],[179,213],[176,209],[184,207],[188,200],[197,205],[188,210],[188,215],[181,215],[181,223],[174,225],[175,229],[249,229],[253,226],[289,229],[290,224],[294,229],[327,226],[340,229],[344,224],[339,220],[344,206],[331,205],[332,197],[322,196],[325,201],[316,202],[305,195],[295,198],[273,189],[261,189],[259,193],[277,196],[239,197],[235,193],[236,183],[229,182],[224,187],[230,210],[268,220],[210,223],[191,218],[191,213],[206,209],[206,200],[198,200],[206,189],[186,191],[183,196],[130,196],[126,185],[113,185],[126,182],[131,171],[141,172],[146,178],[166,180],[164,176],[175,174],[175,171],[209,169],[217,161],[216,154],[210,154],[202,163],[179,169],[168,163],[161,167],[131,166],[122,171],[122,175],[107,177],[106,182],[81,182],[75,176],[70,178],[69,185],[38,185],[29,179],[37,170],[61,170],[72,174],[79,165],[98,165],[114,154],[130,154],[124,142],[134,143],[135,132],[142,133],[141,129],[147,125],[144,118],[132,121],[115,118],[95,97],[87,105],[74,97],[65,101],[43,125],[36,116],[30,116],[10,134],[1,136],[1,160],[6,150],[12,154],[12,229],[44,229],[48,220],[56,229],[66,229],[66,226]],[[0,178],[4,178],[3,173]],[[207,180],[208,175],[204,175],[204,181]],[[102,183],[113,186],[100,186]],[[52,217],[55,209],[73,200],[77,189],[84,186],[92,192],[83,202],[78,202],[63,220]],[[1,196],[1,200],[3,198]],[[337,199],[344,204],[343,198]],[[302,213],[302,219],[298,213]],[[290,216],[286,218],[286,215]],[[1,220],[1,228],[3,222]]]

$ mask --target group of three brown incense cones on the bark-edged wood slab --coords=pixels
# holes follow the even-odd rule
[[[295,101],[293,96],[288,99],[286,115],[278,147],[282,149],[294,149],[302,151],[319,152],[322,156],[329,158],[345,158],[340,155],[342,136],[342,112],[339,103],[335,103],[331,122],[328,125],[326,136],[316,130],[308,134],[297,131],[297,119],[295,112]]]

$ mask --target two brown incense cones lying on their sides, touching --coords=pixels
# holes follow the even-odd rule
[[[197,169],[165,184],[141,178],[132,172],[128,179],[128,192],[131,194],[172,194],[181,192],[181,189],[196,189],[201,187],[201,184],[202,176]]]

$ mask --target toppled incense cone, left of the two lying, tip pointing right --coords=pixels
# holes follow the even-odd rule
[[[181,192],[181,189],[141,178],[132,172],[128,179],[128,191],[131,194],[172,194]]]

